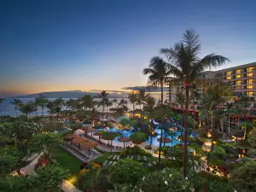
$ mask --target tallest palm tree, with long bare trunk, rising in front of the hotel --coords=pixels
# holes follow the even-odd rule
[[[170,62],[171,73],[178,81],[184,82],[185,86],[185,137],[183,155],[183,175],[188,175],[188,108],[189,108],[189,87],[195,79],[207,68],[218,67],[229,61],[222,55],[210,54],[200,59],[201,42],[199,36],[193,30],[184,32],[183,39],[170,49],[160,49],[160,53],[166,55]]]

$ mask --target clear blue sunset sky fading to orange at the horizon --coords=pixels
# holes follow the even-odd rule
[[[0,96],[145,85],[150,58],[186,29],[199,33],[201,56],[230,59],[217,69],[256,61],[255,8],[254,0],[2,0]]]

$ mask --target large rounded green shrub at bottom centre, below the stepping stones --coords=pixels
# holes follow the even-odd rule
[[[136,184],[143,177],[144,172],[143,165],[135,160],[119,160],[110,167],[108,182]]]

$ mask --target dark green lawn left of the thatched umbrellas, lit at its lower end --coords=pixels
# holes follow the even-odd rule
[[[82,183],[79,181],[79,171],[81,160],[67,152],[64,148],[55,148],[55,160],[63,166],[69,169],[71,176],[67,178],[70,183],[73,183],[78,189],[82,189]]]

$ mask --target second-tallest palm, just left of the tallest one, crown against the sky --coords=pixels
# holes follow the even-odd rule
[[[155,56],[151,59],[148,68],[143,69],[144,74],[149,74],[148,84],[153,87],[160,86],[161,89],[161,105],[164,102],[164,84],[169,81],[169,75],[171,71],[169,65],[159,56]]]

